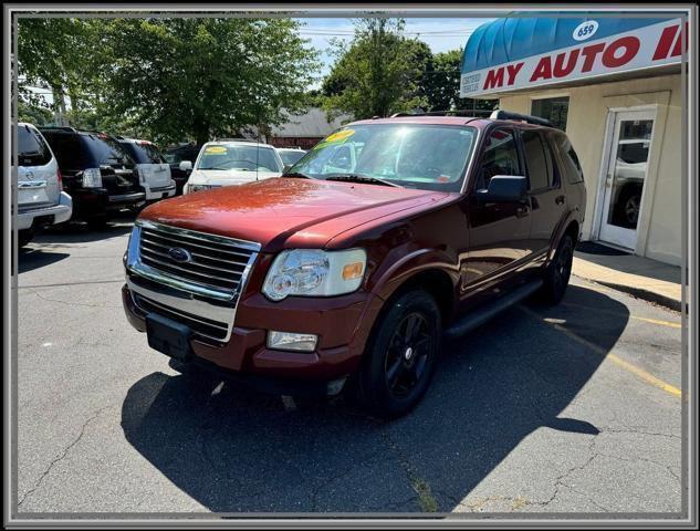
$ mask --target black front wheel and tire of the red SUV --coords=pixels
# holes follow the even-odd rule
[[[432,378],[441,336],[440,310],[422,290],[400,294],[376,323],[357,386],[361,405],[396,418],[422,398]]]

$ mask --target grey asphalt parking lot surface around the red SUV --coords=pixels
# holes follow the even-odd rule
[[[123,313],[130,219],[19,257],[19,517],[681,511],[680,315],[573,279],[443,345],[380,421],[194,381]]]

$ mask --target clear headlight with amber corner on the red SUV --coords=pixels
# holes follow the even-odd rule
[[[262,292],[273,301],[289,295],[332,296],[351,293],[362,283],[367,254],[364,249],[282,251],[272,262]]]

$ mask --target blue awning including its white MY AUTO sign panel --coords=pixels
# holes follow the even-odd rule
[[[680,28],[680,19],[658,17],[499,19],[477,28],[467,41],[460,95],[491,95],[678,63],[683,48]]]

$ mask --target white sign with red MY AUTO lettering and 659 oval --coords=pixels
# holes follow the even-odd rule
[[[582,22],[573,32],[575,45],[464,72],[461,97],[531,88],[585,77],[680,62],[687,46],[681,21],[665,21],[595,39],[598,23]],[[683,46],[683,42],[686,45]]]

